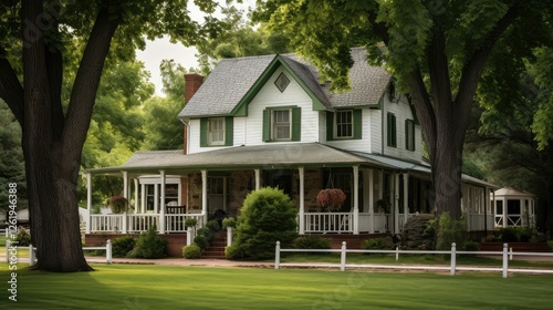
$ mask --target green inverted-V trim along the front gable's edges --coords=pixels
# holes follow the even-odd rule
[[[258,78],[253,86],[246,93],[246,95],[240,100],[240,102],[232,108],[233,116],[248,116],[248,105],[253,100],[253,97],[261,91],[261,89],[267,84],[269,79],[273,75],[273,73],[282,65],[286,70],[286,73],[292,75],[295,82],[300,84],[300,86],[307,93],[307,95],[313,101],[313,111],[325,111],[327,107],[323,104],[323,102],[307,87],[307,85],[295,74],[295,72],[290,68],[290,65],[283,60],[282,55],[278,54],[271,61],[271,63],[267,66],[265,71],[261,73]]]

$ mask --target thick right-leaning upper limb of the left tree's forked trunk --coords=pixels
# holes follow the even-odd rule
[[[67,152],[79,153],[72,155],[81,154],[86,140],[102,70],[118,24],[106,6],[100,9],[76,73],[62,133]]]

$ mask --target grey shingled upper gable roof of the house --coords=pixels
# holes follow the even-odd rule
[[[179,118],[233,115],[253,99],[270,75],[281,65],[310,94],[316,110],[377,105],[390,75],[384,66],[366,62],[365,49],[352,49],[354,65],[349,71],[352,90],[331,93],[321,84],[316,68],[294,54],[223,59],[206,79],[198,92],[179,113]],[[242,111],[242,114],[243,111]]]

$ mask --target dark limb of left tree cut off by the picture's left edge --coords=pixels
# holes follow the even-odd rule
[[[6,50],[0,46],[0,55],[6,55]],[[24,125],[23,86],[19,82],[15,71],[7,58],[0,56],[0,99],[6,101],[21,127]]]

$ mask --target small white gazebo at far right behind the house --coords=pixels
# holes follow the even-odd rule
[[[495,227],[534,227],[535,195],[503,187],[494,192]]]

